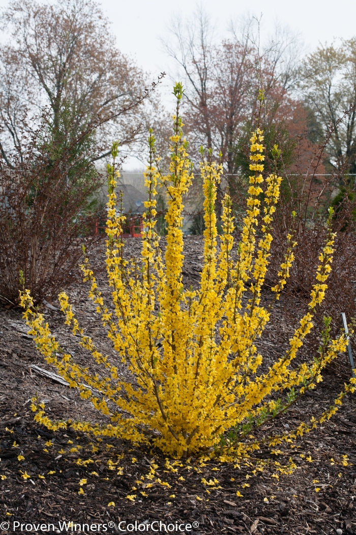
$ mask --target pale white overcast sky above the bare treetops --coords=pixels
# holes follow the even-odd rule
[[[192,15],[198,5],[194,0],[102,0],[103,10],[113,22],[113,32],[122,52],[136,56],[137,62],[159,74],[172,71],[162,51],[159,37],[167,32],[170,20],[180,6],[183,16]],[[226,34],[229,21],[263,13],[262,30],[272,32],[275,20],[299,32],[308,48],[330,43],[337,37],[356,35],[355,0],[204,0],[200,3],[217,24],[218,32]],[[173,72],[172,72],[173,74]]]

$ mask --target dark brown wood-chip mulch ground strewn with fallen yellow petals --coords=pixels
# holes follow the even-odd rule
[[[139,239],[128,240],[129,256],[137,256],[139,248]],[[201,239],[187,237],[185,249],[184,282],[196,286],[202,266]],[[100,285],[105,279],[104,270],[99,269],[103,259],[104,247],[97,246],[91,261]],[[112,356],[85,292],[85,285],[80,283],[69,288],[78,318],[100,348]],[[104,295],[107,293],[104,291]],[[263,299],[270,299],[267,292]],[[61,313],[48,307],[44,312],[62,345],[84,362],[86,356],[70,337]],[[283,316],[282,300],[275,308],[271,327],[259,342],[267,364],[282,354],[291,329]],[[53,524],[60,532],[66,528],[59,522],[73,521],[88,524],[84,530],[91,532],[98,531],[101,524],[101,531],[153,533],[147,525],[161,521],[169,530],[184,524],[187,533],[201,535],[356,533],[356,395],[344,398],[331,421],[291,447],[282,448],[281,453],[260,450],[255,458],[239,463],[191,457],[172,467],[173,461],[167,465],[157,450],[133,447],[116,439],[98,441],[71,430],[53,433],[35,423],[30,410],[34,395],[46,400],[52,418],[99,421],[99,417],[75,389],[32,368],[37,365],[56,372],[36,353],[26,333],[21,310],[0,307],[0,531],[18,532],[23,524],[22,532],[41,533],[35,524],[43,523]],[[269,424],[262,432],[268,434],[268,429],[272,432],[286,426],[294,429],[300,421],[320,415],[342,390],[344,380],[337,366],[330,368],[316,391],[305,395],[273,424],[273,429]],[[263,471],[256,470],[260,466],[258,458],[265,463]],[[287,465],[289,458],[297,468],[291,475],[282,475],[275,463]],[[151,480],[147,475],[153,464],[155,477]],[[211,483],[215,478],[218,483],[204,485],[202,478]],[[86,483],[82,481],[81,486],[83,479]],[[79,493],[81,488],[83,493]],[[108,505],[112,502],[115,505]],[[4,522],[9,522],[9,529]],[[110,522],[113,528],[109,528]],[[119,528],[120,522],[126,524]],[[76,531],[79,527],[83,525],[77,525]],[[157,528],[159,524],[154,524]],[[74,525],[68,529],[74,531]],[[165,532],[163,527],[161,532]]]

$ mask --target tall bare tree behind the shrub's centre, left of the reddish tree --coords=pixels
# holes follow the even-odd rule
[[[185,83],[185,121],[193,147],[203,144],[221,152],[232,172],[232,141],[249,105],[251,47],[247,40],[217,44],[215,28],[202,9],[191,22],[174,20],[171,34],[165,48]]]

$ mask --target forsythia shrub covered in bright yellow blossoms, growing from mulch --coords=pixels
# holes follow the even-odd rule
[[[334,243],[334,234],[329,228],[325,247],[319,256],[320,265],[308,311],[300,319],[286,354],[267,371],[259,373],[263,357],[255,340],[262,335],[270,319],[270,308],[261,305],[260,297],[272,241],[273,213],[282,180],[275,173],[263,178],[263,132],[259,128],[250,140],[249,197],[237,248],[234,248],[231,200],[227,194],[222,202],[222,234],[218,236],[217,233],[215,202],[222,166],[212,160],[211,151],[204,159],[201,150],[206,229],[204,266],[200,288],[193,291],[183,287],[182,199],[193,174],[179,116],[183,96],[180,83],[174,92],[177,110],[173,116],[168,175],[160,172],[152,131],[149,135],[150,153],[145,173],[148,200],[145,202],[140,266],[123,258],[125,217],[117,209],[115,158],[118,144],[113,145],[114,162],[108,166],[106,228],[106,266],[112,288],[112,311],[102,299],[88,258],[84,257],[82,265],[84,281],[90,284],[89,299],[101,315],[118,363],[110,362],[84,334],[64,292],[59,295],[59,301],[65,323],[72,328],[80,345],[101,365],[100,375],[76,364],[73,357],[65,353],[50,333],[43,316],[33,308],[28,291],[22,293],[21,302],[26,308],[24,316],[30,326],[29,333],[34,335],[36,346],[46,361],[56,366],[70,387],[80,389],[82,398],[90,400],[110,419],[110,423],[102,426],[73,421],[53,423],[45,415],[43,404],[35,403],[33,409],[38,422],[52,429],[71,425],[76,430],[123,437],[133,442],[151,440],[163,452],[181,456],[218,444],[221,434],[231,428],[238,430],[240,424],[250,422],[253,427],[286,410],[299,395],[321,380],[322,368],[345,350],[346,339],[341,335],[337,340],[330,340],[327,321],[319,355],[310,363],[294,365],[297,351],[313,327],[315,309],[327,288]],[[274,157],[278,156],[275,146]],[[158,183],[167,189],[169,199],[164,259],[155,232]],[[294,258],[292,251],[296,243],[292,233],[288,235],[288,243],[279,280],[272,288],[275,299],[279,299],[286,284]],[[243,307],[242,297],[246,294],[248,300]],[[130,381],[122,375],[125,367],[131,373]],[[345,392],[350,390],[353,391],[353,386],[349,384]],[[272,400],[271,394],[277,391],[286,392],[284,401]],[[344,393],[340,399],[342,395]],[[330,417],[331,412],[322,418]],[[305,424],[299,426],[298,434],[311,429],[314,422],[313,419],[310,428]]]

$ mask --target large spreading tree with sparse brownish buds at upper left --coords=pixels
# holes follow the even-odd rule
[[[7,7],[2,20],[12,37],[0,49],[0,114],[9,134],[4,157],[18,146],[23,111],[36,114],[44,105],[54,128],[66,128],[68,114],[78,128],[99,116],[99,142],[130,137],[141,119],[131,104],[143,93],[145,75],[117,50],[98,4],[23,0]]]

